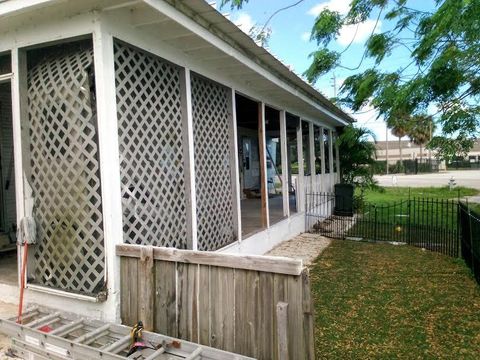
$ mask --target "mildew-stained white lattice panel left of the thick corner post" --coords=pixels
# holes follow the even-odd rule
[[[28,71],[35,281],[96,294],[105,285],[93,50],[45,52]]]

